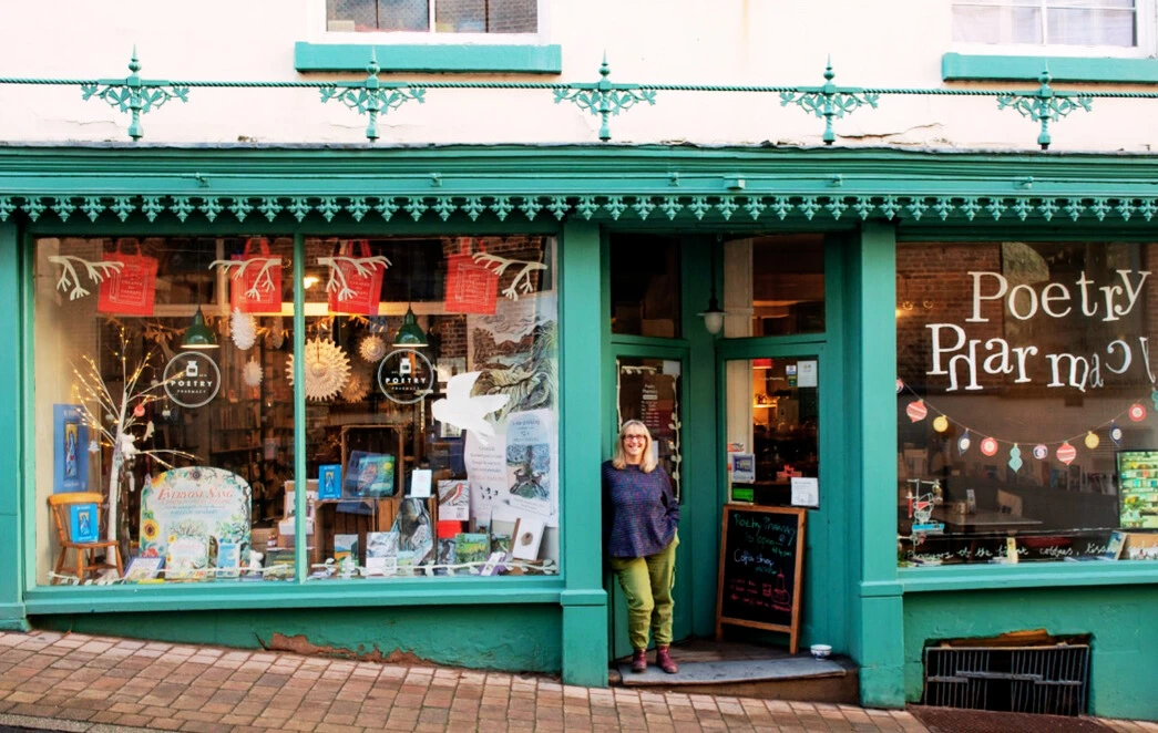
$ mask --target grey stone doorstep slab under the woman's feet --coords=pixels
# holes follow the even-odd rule
[[[793,657],[790,659],[738,659],[733,661],[679,661],[679,674],[667,674],[651,664],[647,672],[631,672],[631,664],[621,664],[624,687],[653,684],[723,684],[727,682],[758,682],[761,680],[797,680],[804,677],[835,677],[844,675],[844,667],[827,659]]]

